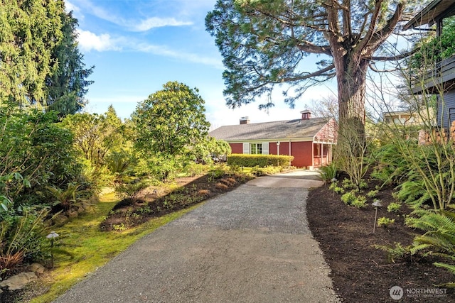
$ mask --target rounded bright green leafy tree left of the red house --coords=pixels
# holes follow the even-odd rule
[[[132,114],[135,148],[150,170],[166,180],[176,167],[198,156],[198,145],[208,139],[204,100],[198,89],[167,82],[163,89],[140,102]]]

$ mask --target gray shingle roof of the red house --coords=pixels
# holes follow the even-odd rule
[[[328,123],[327,118],[272,121],[221,126],[209,135],[225,141],[312,138]]]

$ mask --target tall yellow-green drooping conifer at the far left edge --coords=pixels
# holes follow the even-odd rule
[[[62,38],[63,0],[0,1],[0,100],[43,103]]]

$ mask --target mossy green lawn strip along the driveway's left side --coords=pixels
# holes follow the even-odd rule
[[[173,221],[197,206],[148,221],[127,231],[100,231],[100,223],[118,202],[114,194],[106,194],[93,211],[56,227],[60,236],[55,241],[54,269],[41,280],[48,292],[31,300],[33,303],[51,302],[87,273],[96,270],[139,238]],[[60,250],[60,252],[58,252]],[[65,250],[67,253],[62,253]]]

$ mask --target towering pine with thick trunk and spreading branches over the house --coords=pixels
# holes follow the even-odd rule
[[[262,95],[267,101],[259,108],[274,106],[272,89],[282,84],[289,85],[283,93],[294,106],[308,87],[336,77],[341,128],[353,122],[363,136],[368,67],[403,57],[383,53],[382,46],[400,31],[407,12],[414,13],[415,2],[218,0],[205,24],[224,58],[228,106]],[[321,58],[313,70],[309,54]]]

